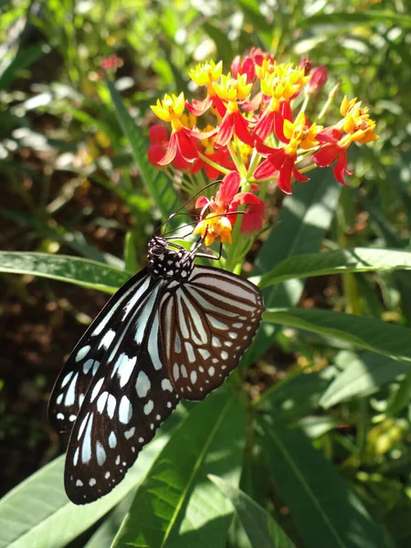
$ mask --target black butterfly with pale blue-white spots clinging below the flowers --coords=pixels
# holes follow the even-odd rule
[[[163,237],[148,265],[90,324],[58,375],[48,416],[70,431],[70,501],[98,500],[121,482],[181,398],[202,400],[227,378],[264,311],[260,290]]]

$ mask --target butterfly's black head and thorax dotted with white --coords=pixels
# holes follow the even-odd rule
[[[148,245],[148,269],[154,278],[184,283],[191,274],[194,262],[184,249],[170,248],[163,237],[153,237]]]

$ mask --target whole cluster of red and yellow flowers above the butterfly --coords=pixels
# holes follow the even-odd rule
[[[307,107],[325,84],[327,70],[306,60],[299,66],[279,63],[253,48],[245,58],[234,58],[228,74],[221,61],[210,61],[197,65],[190,78],[205,88],[205,99],[189,102],[181,93],[157,100],[152,110],[171,131],[151,128],[148,157],[157,168],[175,168],[191,182],[197,175],[200,181],[204,174],[211,180],[223,176],[215,197],[196,201],[201,211],[195,233],[206,246],[217,238],[231,243],[239,212],[242,232],[260,230],[269,184],[291,194],[293,180],[305,183],[311,169],[333,163],[336,180],[346,184],[344,175],[352,174],[349,146],[378,138],[361,100],[344,97],[342,118],[331,126],[309,120]],[[329,94],[321,118],[338,88]]]

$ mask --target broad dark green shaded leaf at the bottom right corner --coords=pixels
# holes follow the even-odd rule
[[[262,445],[279,497],[304,548],[383,548],[381,532],[332,464],[298,430],[262,421]]]

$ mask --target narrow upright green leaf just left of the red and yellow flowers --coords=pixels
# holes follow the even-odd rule
[[[142,181],[153,198],[153,203],[159,208],[165,221],[181,206],[179,195],[174,190],[172,182],[156,169],[147,158],[149,142],[142,130],[136,126],[131,115],[121,100],[119,92],[110,79],[106,78],[116,116],[124,135],[132,146],[134,159],[142,174]]]

